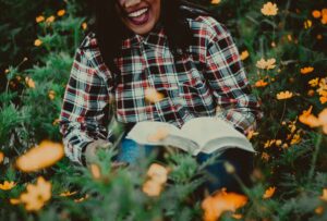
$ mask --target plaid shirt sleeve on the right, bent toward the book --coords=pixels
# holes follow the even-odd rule
[[[238,48],[229,30],[216,20],[207,20],[209,39],[206,40],[206,79],[215,96],[217,116],[232,123],[246,134],[255,130],[256,120],[263,116],[259,103],[241,62]]]

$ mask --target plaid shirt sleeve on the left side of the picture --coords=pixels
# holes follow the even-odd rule
[[[70,160],[83,165],[85,147],[96,139],[108,138],[104,121],[109,113],[106,108],[110,88],[98,71],[85,51],[77,49],[60,113],[64,152]]]

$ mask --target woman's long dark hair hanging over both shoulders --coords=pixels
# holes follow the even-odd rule
[[[109,70],[119,74],[113,59],[120,56],[122,39],[132,35],[122,23],[114,8],[117,0],[96,0],[94,33],[104,62]],[[186,17],[196,14],[209,14],[205,9],[184,0],[161,0],[160,21],[168,37],[168,45],[173,54],[183,51],[193,44],[193,34],[186,23]],[[181,49],[181,50],[178,50]]]

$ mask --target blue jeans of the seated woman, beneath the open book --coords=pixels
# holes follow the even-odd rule
[[[135,164],[137,159],[148,157],[158,146],[152,145],[138,145],[132,139],[123,138],[120,147],[120,151],[116,158],[117,161],[128,162]],[[198,154],[196,160],[198,163],[205,162],[213,155]],[[205,171],[213,179],[207,179],[203,188],[207,188],[209,193],[226,187],[228,192],[242,193],[241,186],[235,177],[229,174],[223,165],[225,161],[231,163],[235,170],[235,175],[240,177],[245,186],[251,185],[250,174],[253,170],[253,154],[230,148],[216,158],[216,162],[205,168]]]

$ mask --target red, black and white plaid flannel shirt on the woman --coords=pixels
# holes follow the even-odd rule
[[[121,71],[117,87],[95,34],[86,36],[75,53],[60,114],[65,155],[72,161],[85,164],[85,147],[96,139],[109,140],[104,118],[112,100],[122,123],[165,121],[180,127],[192,118],[209,115],[242,132],[255,127],[262,113],[230,33],[210,16],[187,22],[197,44],[178,59],[160,25],[146,36],[123,39],[122,57],[114,60]],[[165,98],[149,103],[145,99],[148,87]]]

